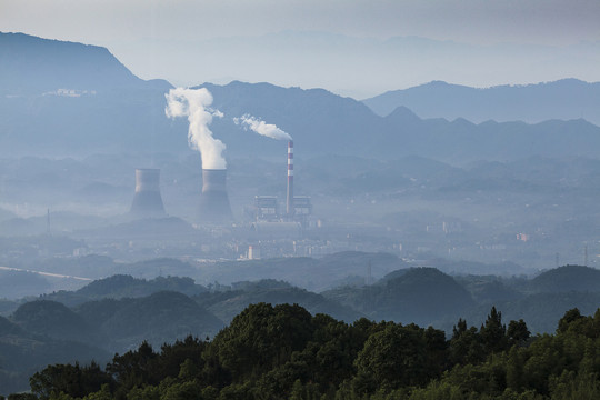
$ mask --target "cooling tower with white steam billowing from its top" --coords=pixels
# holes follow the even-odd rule
[[[198,208],[199,222],[226,223],[233,219],[226,188],[227,170],[202,170],[202,196]]]

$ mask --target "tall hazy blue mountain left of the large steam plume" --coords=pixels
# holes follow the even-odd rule
[[[137,78],[106,48],[0,33],[0,147],[11,156],[177,148],[163,112],[170,87]]]

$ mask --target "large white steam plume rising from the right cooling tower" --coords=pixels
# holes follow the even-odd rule
[[[177,88],[169,90],[164,97],[167,117],[188,117],[190,122],[188,143],[202,154],[202,169],[226,169],[227,162],[222,154],[226,146],[212,137],[212,131],[208,127],[212,122],[212,117],[223,117],[222,112],[209,107],[212,104],[210,92],[206,88]]]

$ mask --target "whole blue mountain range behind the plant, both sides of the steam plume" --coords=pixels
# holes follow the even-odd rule
[[[138,79],[107,49],[24,34],[0,38],[0,157],[191,153],[187,121],[164,117],[168,82]],[[600,157],[600,128],[582,119],[474,124],[423,120],[404,107],[381,117],[364,103],[322,89],[242,82],[201,87],[226,114],[211,129],[227,144],[227,157],[277,157],[282,151],[283,144],[236,126],[232,118],[243,113],[292,134],[299,157],[417,154],[449,162]],[[562,97],[554,102],[560,101]],[[493,110],[484,119],[490,118]]]

